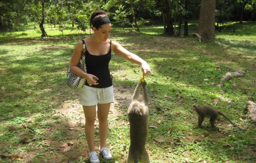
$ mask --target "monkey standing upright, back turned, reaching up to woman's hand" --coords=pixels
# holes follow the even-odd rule
[[[132,102],[128,108],[130,122],[130,147],[126,158],[127,163],[150,163],[145,145],[148,134],[148,93],[146,81],[139,81],[133,93]],[[143,101],[139,101],[142,85]]]

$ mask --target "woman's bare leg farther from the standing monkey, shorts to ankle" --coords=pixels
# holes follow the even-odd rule
[[[95,151],[94,148],[94,123],[96,119],[96,105],[83,106],[85,117],[85,136],[90,152]]]

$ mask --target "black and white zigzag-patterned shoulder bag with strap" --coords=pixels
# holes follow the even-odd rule
[[[86,64],[85,64],[85,42],[84,40],[81,40],[83,42],[83,49],[82,49],[82,62],[79,62],[78,67],[81,68],[86,73]],[[71,72],[70,65],[68,66],[67,70],[67,84],[70,88],[75,90],[80,90],[84,86],[85,78],[79,77]]]

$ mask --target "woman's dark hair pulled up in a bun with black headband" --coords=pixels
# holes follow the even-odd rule
[[[90,16],[90,27],[99,29],[102,24],[110,23],[105,11],[94,11]]]

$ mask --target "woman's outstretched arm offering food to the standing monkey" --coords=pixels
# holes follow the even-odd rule
[[[146,61],[144,61],[143,59],[141,59],[141,57],[139,57],[136,54],[131,53],[130,51],[126,50],[123,46],[121,46],[119,43],[112,41],[112,46],[111,46],[112,50],[119,56],[123,57],[124,59],[135,63],[135,64],[139,64],[141,65],[141,70],[143,73],[143,76],[148,75],[148,73],[151,72],[150,67],[148,66],[148,63]]]

